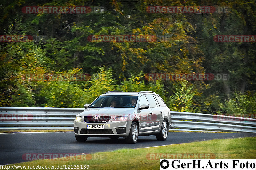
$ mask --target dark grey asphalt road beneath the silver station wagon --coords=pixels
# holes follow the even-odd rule
[[[155,136],[139,136],[136,144],[127,144],[124,138],[88,137],[85,143],[76,142],[73,132],[5,133],[0,134],[0,165],[26,162],[22,155],[31,153],[95,153],[120,148],[143,148],[180,144],[211,139],[252,137],[256,133],[193,133],[169,132],[167,140],[157,141]]]

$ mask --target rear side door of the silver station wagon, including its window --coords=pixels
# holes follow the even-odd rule
[[[161,109],[153,95],[147,94],[146,97],[148,99],[149,107],[152,109],[152,114],[151,114],[152,131],[158,130],[160,127]]]

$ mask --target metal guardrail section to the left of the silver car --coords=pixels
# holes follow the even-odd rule
[[[73,129],[84,108],[0,107],[0,130]]]

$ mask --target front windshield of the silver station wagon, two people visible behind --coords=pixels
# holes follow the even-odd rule
[[[117,108],[135,108],[138,96],[100,96],[89,108],[96,107],[117,107]]]

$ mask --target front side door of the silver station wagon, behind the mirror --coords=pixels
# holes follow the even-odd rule
[[[146,95],[140,96],[139,106],[143,104],[149,105]],[[140,118],[140,132],[148,132],[152,130],[151,114],[151,108],[138,110],[138,115]]]

